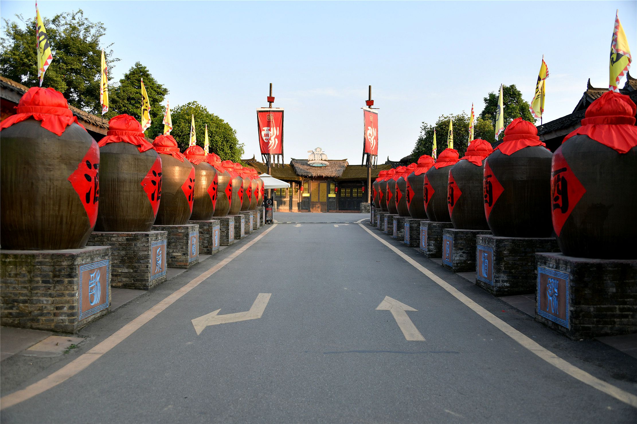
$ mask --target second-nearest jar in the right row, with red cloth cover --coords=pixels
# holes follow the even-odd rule
[[[549,237],[551,152],[535,126],[516,118],[484,164],[484,210],[494,236]]]

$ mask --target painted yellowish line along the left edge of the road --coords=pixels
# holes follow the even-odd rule
[[[24,402],[27,399],[31,399],[35,395],[39,395],[39,393],[45,392],[48,389],[53,388],[60,383],[68,380],[69,378],[75,376],[75,374],[79,373],[90,364],[95,362],[97,359],[99,359],[102,355],[104,355],[104,353],[108,352],[119,343],[124,341],[133,332],[140,329],[142,325],[152,320],[152,318],[157,317],[157,315],[159,315],[161,311],[168,308],[168,306],[170,306],[171,304],[175,303],[184,294],[197,287],[197,285],[201,284],[201,282],[203,282],[206,278],[210,277],[215,272],[227,265],[235,257],[245,252],[248,247],[258,242],[264,235],[268,234],[269,231],[272,231],[272,229],[274,229],[275,227],[276,224],[273,224],[273,226],[266,229],[266,231],[258,235],[254,240],[233,252],[233,254],[226,257],[223,261],[210,268],[210,270],[205,271],[198,277],[190,280],[188,284],[173,292],[173,294],[170,294],[169,296],[162,299],[159,303],[155,304],[155,306],[145,311],[139,317],[135,318],[128,324],[124,325],[124,327],[120,328],[118,331],[108,336],[108,338],[96,345],[94,348],[91,348],[89,351],[87,351],[87,353],[83,353],[76,359],[66,364],[61,369],[55,371],[55,373],[50,374],[42,380],[39,380],[36,383],[23,388],[22,390],[18,390],[17,392],[13,392],[0,398],[0,409],[5,409],[15,404],[19,404],[20,402]]]

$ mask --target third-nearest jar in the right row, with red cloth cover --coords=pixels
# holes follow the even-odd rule
[[[457,229],[489,229],[484,214],[484,161],[493,151],[486,140],[475,139],[458,163],[449,168],[447,206]]]

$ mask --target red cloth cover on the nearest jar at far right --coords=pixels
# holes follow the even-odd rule
[[[562,143],[573,135],[581,134],[619,153],[627,153],[637,146],[635,109],[630,97],[608,91],[590,104],[582,127],[564,137]]]

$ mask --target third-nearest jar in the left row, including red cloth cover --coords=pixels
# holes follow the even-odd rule
[[[164,170],[161,202],[155,225],[187,224],[192,214],[195,168],[183,156],[172,135],[158,135],[153,141]]]

